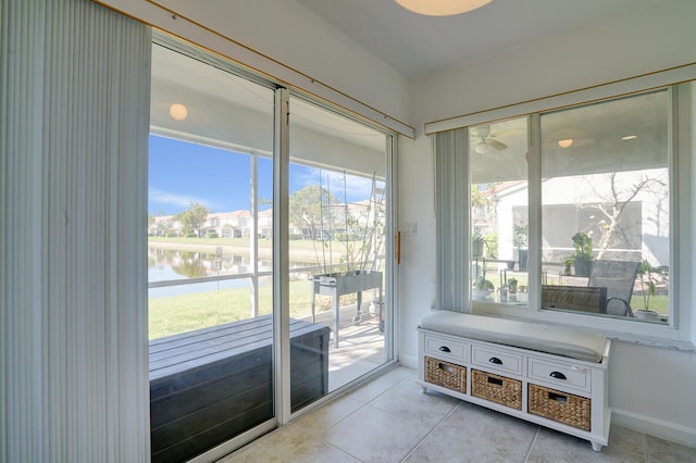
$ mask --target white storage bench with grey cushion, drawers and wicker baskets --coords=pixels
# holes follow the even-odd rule
[[[609,437],[610,340],[543,323],[439,311],[419,326],[419,384],[592,442]]]

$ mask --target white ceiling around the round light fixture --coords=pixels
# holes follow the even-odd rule
[[[608,22],[670,0],[494,0],[435,17],[394,0],[297,0],[405,77]]]

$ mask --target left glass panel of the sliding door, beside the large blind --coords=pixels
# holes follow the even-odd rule
[[[272,89],[152,51],[152,461],[184,461],[275,416]]]

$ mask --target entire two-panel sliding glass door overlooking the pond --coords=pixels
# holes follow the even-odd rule
[[[151,95],[152,461],[216,458],[393,360],[390,136],[167,38]]]

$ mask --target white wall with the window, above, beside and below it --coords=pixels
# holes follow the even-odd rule
[[[419,221],[419,235],[410,237],[400,272],[403,363],[414,365],[414,327],[435,299],[431,283],[435,232],[424,222],[430,217],[423,204],[433,190],[432,177],[423,174],[431,172],[431,145],[422,124],[695,62],[694,17],[692,0],[643,8],[601,27],[521,46],[411,82],[411,108],[419,110],[411,124],[420,135],[414,141],[400,140],[399,213],[401,221]],[[692,237],[696,238],[693,228]],[[609,378],[614,422],[696,447],[695,376],[694,353],[616,342]]]

